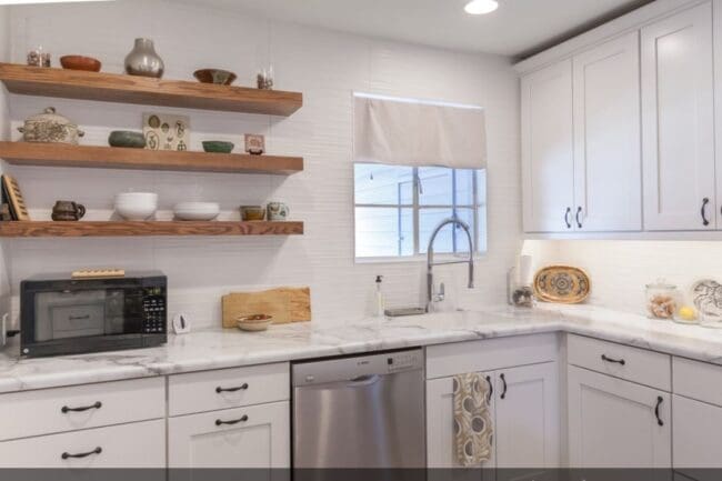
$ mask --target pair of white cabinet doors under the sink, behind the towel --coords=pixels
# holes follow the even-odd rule
[[[494,420],[492,459],[482,467],[489,470],[484,477],[493,478],[494,469],[499,469],[498,479],[510,479],[507,474],[512,475],[511,471],[503,470],[559,468],[556,362],[498,370],[483,377],[493,387],[490,405]],[[427,440],[429,468],[460,468],[454,455],[453,378],[427,382]]]

